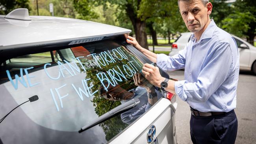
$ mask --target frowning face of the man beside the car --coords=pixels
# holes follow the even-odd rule
[[[204,6],[202,0],[180,1],[179,5],[187,29],[193,33],[202,30],[209,20],[207,5]]]

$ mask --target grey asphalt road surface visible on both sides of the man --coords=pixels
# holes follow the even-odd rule
[[[184,79],[184,71],[168,72],[172,78]],[[176,99],[176,133],[178,144],[192,144],[189,133],[190,111],[189,105]],[[238,119],[236,144],[255,144],[256,142],[256,76],[251,72],[240,72],[237,85],[237,107],[235,109]]]

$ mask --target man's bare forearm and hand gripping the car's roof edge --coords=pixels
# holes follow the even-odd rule
[[[132,44],[142,54],[146,55],[148,59],[150,59],[150,61],[152,61],[153,63],[156,63],[157,54],[141,47],[134,37],[128,36],[128,39],[126,40],[126,42],[129,44]]]

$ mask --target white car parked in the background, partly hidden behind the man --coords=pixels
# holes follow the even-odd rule
[[[183,50],[192,34],[191,32],[181,33],[180,37],[173,42],[169,55],[173,56]],[[256,74],[256,47],[235,35],[232,35],[232,37],[236,40],[240,54],[240,70],[250,70]]]

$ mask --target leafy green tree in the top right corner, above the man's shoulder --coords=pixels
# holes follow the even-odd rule
[[[236,0],[233,12],[222,20],[222,28],[237,36],[245,36],[251,44],[256,36],[256,1]]]

